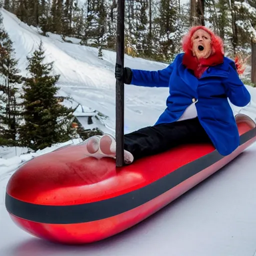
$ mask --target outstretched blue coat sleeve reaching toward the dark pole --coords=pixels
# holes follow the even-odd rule
[[[132,69],[131,84],[145,87],[168,87],[175,60],[167,67],[157,71]]]

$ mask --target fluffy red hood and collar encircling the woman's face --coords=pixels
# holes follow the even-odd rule
[[[208,58],[201,58],[200,60],[197,60],[197,58],[193,56],[191,42],[191,37],[193,33],[198,29],[203,29],[210,34],[212,49],[212,54]],[[188,33],[182,39],[182,48],[184,51],[182,63],[187,68],[193,70],[196,77],[200,77],[203,71],[208,66],[217,65],[223,62],[223,41],[219,36],[215,35],[210,29],[206,28],[205,26],[191,27]]]

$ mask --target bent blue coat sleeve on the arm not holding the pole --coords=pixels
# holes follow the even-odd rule
[[[227,97],[236,106],[245,106],[250,102],[250,93],[240,80],[234,62],[230,64],[230,72],[224,83]]]

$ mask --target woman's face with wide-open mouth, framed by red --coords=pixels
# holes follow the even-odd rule
[[[196,30],[192,35],[192,51],[197,58],[207,58],[211,53],[211,38],[203,29]]]

